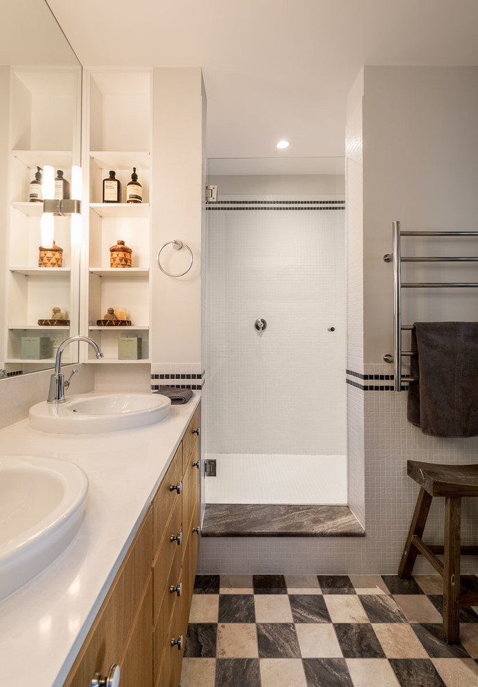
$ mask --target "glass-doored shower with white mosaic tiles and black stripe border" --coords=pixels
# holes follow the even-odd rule
[[[208,171],[204,502],[346,504],[344,160]]]

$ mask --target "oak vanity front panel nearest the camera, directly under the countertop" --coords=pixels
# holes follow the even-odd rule
[[[134,538],[65,686],[85,687],[91,684],[95,672],[107,675],[112,663],[121,664],[150,575],[151,550],[152,509]]]

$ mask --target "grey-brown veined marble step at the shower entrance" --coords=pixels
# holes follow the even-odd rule
[[[206,503],[202,536],[365,536],[348,506]]]

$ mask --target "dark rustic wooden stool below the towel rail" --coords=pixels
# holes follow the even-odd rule
[[[437,465],[407,461],[407,474],[420,484],[398,577],[411,577],[421,553],[443,577],[443,637],[460,639],[460,606],[478,604],[478,594],[460,594],[460,554],[478,554],[478,546],[461,546],[461,498],[478,496],[478,465]],[[427,546],[422,541],[434,496],[445,497],[445,545]],[[444,554],[443,563],[436,554]]]

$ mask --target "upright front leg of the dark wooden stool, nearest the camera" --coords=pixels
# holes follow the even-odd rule
[[[445,500],[445,558],[443,561],[443,638],[460,641],[461,497]]]

